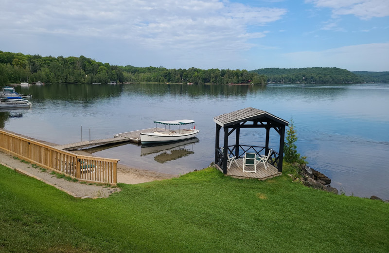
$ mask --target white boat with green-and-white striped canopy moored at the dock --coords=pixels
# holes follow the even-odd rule
[[[193,128],[185,128],[188,124],[194,124],[194,120],[170,120],[170,121],[154,121],[154,123],[165,125],[165,130],[156,130],[154,132],[141,133],[141,143],[165,143],[165,142],[177,142],[181,140],[188,140],[195,138],[200,132]],[[177,126],[178,129],[171,129],[172,126]],[[182,129],[181,129],[182,126]],[[167,128],[168,127],[168,128]],[[160,128],[159,128],[160,129]]]

